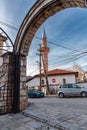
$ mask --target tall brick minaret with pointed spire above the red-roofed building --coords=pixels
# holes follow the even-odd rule
[[[49,47],[47,46],[47,37],[45,29],[43,29],[42,33],[42,44],[41,44],[41,55],[42,55],[42,66],[41,66],[41,72],[47,72],[48,71],[48,53],[49,53]]]

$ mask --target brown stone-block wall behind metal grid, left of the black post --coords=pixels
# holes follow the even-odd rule
[[[0,67],[0,114],[13,110],[14,56],[13,53],[3,55]]]

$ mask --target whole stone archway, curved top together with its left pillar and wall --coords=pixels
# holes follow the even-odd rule
[[[85,2],[84,0],[37,0],[27,13],[18,31],[13,52],[4,55],[6,63],[1,68],[0,84],[1,114],[18,113],[26,108],[26,56],[31,41],[46,19],[58,11],[70,7],[85,7]]]

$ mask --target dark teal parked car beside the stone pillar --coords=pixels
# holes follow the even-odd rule
[[[44,93],[39,90],[29,90],[28,97],[44,97]]]

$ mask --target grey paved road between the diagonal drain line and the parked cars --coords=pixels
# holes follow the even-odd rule
[[[87,130],[87,98],[29,98],[26,112],[58,128]]]

